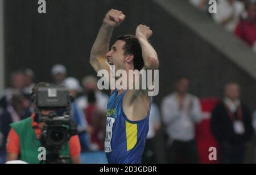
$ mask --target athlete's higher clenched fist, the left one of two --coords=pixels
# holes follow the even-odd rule
[[[123,20],[125,20],[125,15],[122,11],[112,9],[106,14],[103,22],[112,27],[117,27]]]

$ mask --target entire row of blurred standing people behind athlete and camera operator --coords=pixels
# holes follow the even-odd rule
[[[105,111],[109,96],[97,88],[97,78],[88,75],[81,83],[63,65],[51,70],[52,85],[65,86],[74,97],[71,117],[77,123],[82,163],[107,163],[104,153]],[[30,117],[31,89],[34,72],[30,69],[14,71],[11,87],[0,97],[0,156],[6,161],[6,144],[10,124]],[[156,135],[163,136],[166,163],[211,163],[209,147],[215,146],[215,163],[245,163],[246,143],[254,144],[256,112],[253,114],[240,100],[240,86],[227,83],[224,96],[199,99],[189,93],[189,79],[180,77],[175,91],[162,99],[160,108],[152,104],[149,131],[144,149],[143,163],[159,163]],[[162,126],[161,126],[162,125]],[[164,134],[163,134],[164,133]],[[252,154],[254,152],[250,152]]]

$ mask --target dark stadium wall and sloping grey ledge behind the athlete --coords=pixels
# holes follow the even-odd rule
[[[214,24],[187,1],[46,2],[46,14],[39,14],[38,1],[3,1],[5,71],[4,82],[1,83],[5,87],[10,85],[10,73],[20,67],[34,70],[35,82],[50,82],[51,67],[55,63],[65,65],[68,76],[79,80],[85,75],[96,75],[89,65],[90,49],[105,13],[115,8],[123,11],[126,20],[114,30],[112,44],[123,33],[134,34],[141,23],[150,26],[154,32],[150,40],[160,61],[160,91],[155,98],[156,104],[160,105],[163,97],[173,91],[175,79],[184,75],[191,80],[190,92],[200,98],[221,97],[226,82],[239,82],[242,100],[251,111],[256,109],[256,72],[250,69],[251,66],[256,67],[256,62],[250,59],[255,55],[235,36]],[[181,6],[185,10],[177,11]],[[187,19],[184,19],[185,16]],[[193,28],[196,23],[201,31]],[[224,38],[221,37],[224,35]],[[247,62],[248,66],[234,61],[234,55]],[[163,139],[161,133],[158,139]],[[160,151],[160,145],[158,148],[161,161],[164,152]]]

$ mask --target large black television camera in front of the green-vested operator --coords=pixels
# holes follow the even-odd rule
[[[69,156],[62,156],[61,149],[72,135],[77,134],[77,125],[69,116],[72,97],[64,87],[40,87],[34,95],[35,121],[44,122],[40,142],[47,150],[46,160],[41,163],[67,163]],[[49,113],[43,116],[42,112]]]

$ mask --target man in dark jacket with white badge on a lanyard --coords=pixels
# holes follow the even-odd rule
[[[212,112],[210,129],[219,144],[219,163],[243,163],[245,143],[253,136],[251,113],[239,97],[238,84],[227,84],[224,100]]]

